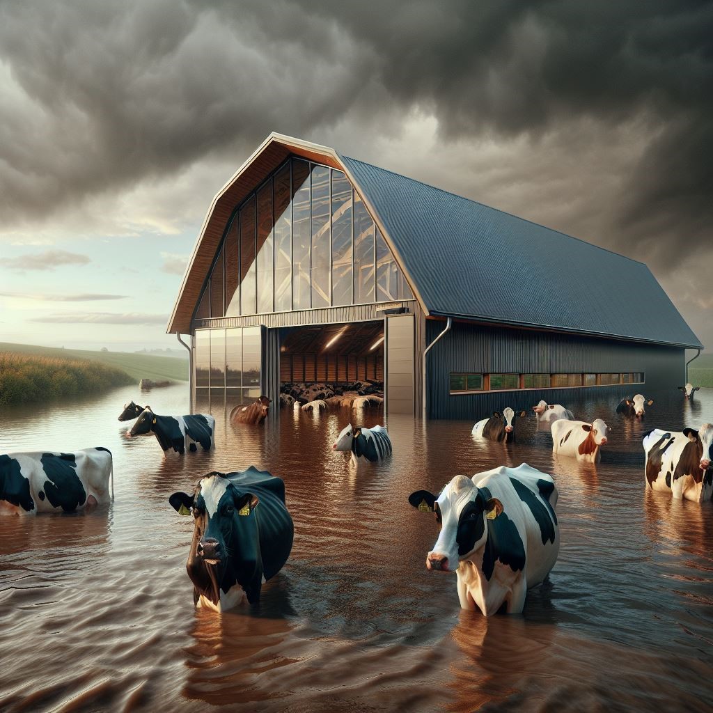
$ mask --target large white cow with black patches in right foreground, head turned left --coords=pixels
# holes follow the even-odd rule
[[[409,503],[435,511],[441,533],[426,568],[456,571],[463,609],[491,616],[503,605],[519,614],[528,589],[545,580],[560,550],[552,476],[531,468],[501,466],[456,476],[439,496],[416,491]]]

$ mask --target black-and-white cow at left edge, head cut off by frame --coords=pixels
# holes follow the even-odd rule
[[[111,452],[101,447],[7,453],[0,456],[0,513],[71,513],[108,503],[114,499],[112,465]]]

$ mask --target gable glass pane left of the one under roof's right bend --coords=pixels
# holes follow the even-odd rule
[[[329,307],[329,168],[312,164],[312,307]]]

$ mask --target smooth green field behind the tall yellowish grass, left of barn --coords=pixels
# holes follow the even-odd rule
[[[141,379],[153,381],[188,381],[188,359],[173,356],[153,356],[151,354],[130,354],[129,352],[90,352],[84,349],[56,349],[35,347],[32,344],[9,344],[0,342],[0,352],[12,354],[33,354],[53,359],[89,359],[106,366],[125,371],[138,384]]]

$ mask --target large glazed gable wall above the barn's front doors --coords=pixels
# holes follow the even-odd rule
[[[291,158],[235,211],[195,318],[401,299],[414,294],[347,176]]]

